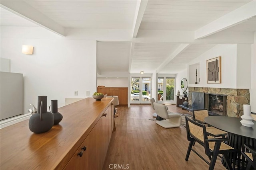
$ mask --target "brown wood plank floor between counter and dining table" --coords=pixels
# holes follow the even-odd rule
[[[114,169],[114,164],[115,169],[130,170],[208,170],[208,164],[192,151],[185,161],[188,140],[184,126],[165,129],[148,120],[154,113],[151,105],[117,108],[116,131],[112,134],[104,170]],[[174,113],[188,113],[176,105],[168,105],[168,109]],[[196,143],[195,149],[208,160],[201,145]],[[220,158],[214,169],[225,170]]]

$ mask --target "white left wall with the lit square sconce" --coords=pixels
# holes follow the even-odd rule
[[[34,46],[34,54],[22,54],[22,45]],[[71,40],[40,27],[1,26],[1,57],[11,60],[11,72],[24,76],[24,113],[29,104],[37,107],[37,96],[62,107],[65,98],[96,91],[96,41]]]

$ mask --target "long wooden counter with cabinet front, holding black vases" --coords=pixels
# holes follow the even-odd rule
[[[113,98],[60,107],[59,125],[35,134],[28,120],[0,129],[0,169],[102,169],[114,129]]]

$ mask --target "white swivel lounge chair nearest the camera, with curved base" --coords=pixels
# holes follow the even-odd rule
[[[156,124],[164,128],[180,127],[181,115],[177,113],[168,113],[166,106],[163,104],[154,103],[156,114],[165,120],[156,121]]]

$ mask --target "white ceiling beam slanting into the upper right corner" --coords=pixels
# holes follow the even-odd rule
[[[207,37],[208,35],[212,35],[214,33],[242,23],[254,16],[256,16],[255,0],[197,29],[194,33],[194,38],[200,39],[203,37]]]

